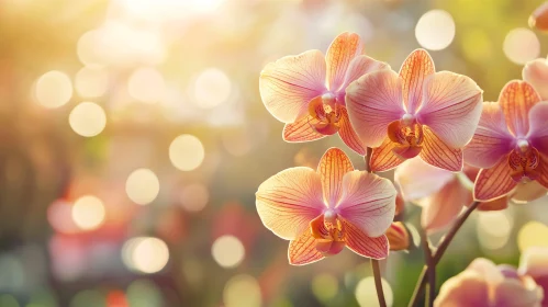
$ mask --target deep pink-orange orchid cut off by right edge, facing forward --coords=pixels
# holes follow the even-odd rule
[[[478,130],[465,150],[467,162],[482,169],[476,200],[496,200],[532,180],[548,187],[547,121],[548,102],[540,102],[525,81],[510,81],[499,102],[483,103]]]

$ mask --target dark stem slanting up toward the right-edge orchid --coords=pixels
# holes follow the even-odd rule
[[[437,263],[439,262],[439,260],[444,255],[445,251],[449,247],[449,243],[455,238],[455,235],[457,235],[457,231],[459,231],[459,229],[462,226],[462,224],[465,224],[465,221],[467,220],[467,218],[478,207],[479,204],[480,204],[479,202],[473,202],[468,207],[468,209],[462,215],[460,215],[460,217],[457,219],[457,221],[455,223],[455,225],[452,225],[452,227],[449,230],[449,232],[447,232],[447,235],[445,235],[444,238],[441,238],[440,243],[439,243],[437,250],[432,255],[434,265],[437,265]],[[410,307],[416,306],[416,304],[418,303],[418,298],[421,297],[421,293],[423,292],[424,286],[426,285],[427,271],[428,271],[428,266],[425,265],[423,268],[423,271],[421,272],[421,275],[418,276],[418,281],[416,283],[415,291],[413,292],[413,296],[411,297],[411,302],[410,302],[410,305],[409,305]]]

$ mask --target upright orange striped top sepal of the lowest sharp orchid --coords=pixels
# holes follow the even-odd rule
[[[322,190],[325,202],[334,207],[343,195],[343,178],[354,171],[348,156],[338,148],[329,148],[320,160],[316,172],[322,179]]]

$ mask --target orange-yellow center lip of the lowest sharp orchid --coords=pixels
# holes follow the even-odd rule
[[[316,249],[324,255],[334,255],[344,249],[345,225],[332,209],[314,218],[310,223],[310,229],[316,239]]]

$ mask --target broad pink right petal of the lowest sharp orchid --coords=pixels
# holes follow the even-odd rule
[[[343,178],[338,214],[369,237],[387,232],[395,212],[396,191],[390,180],[351,171]]]

